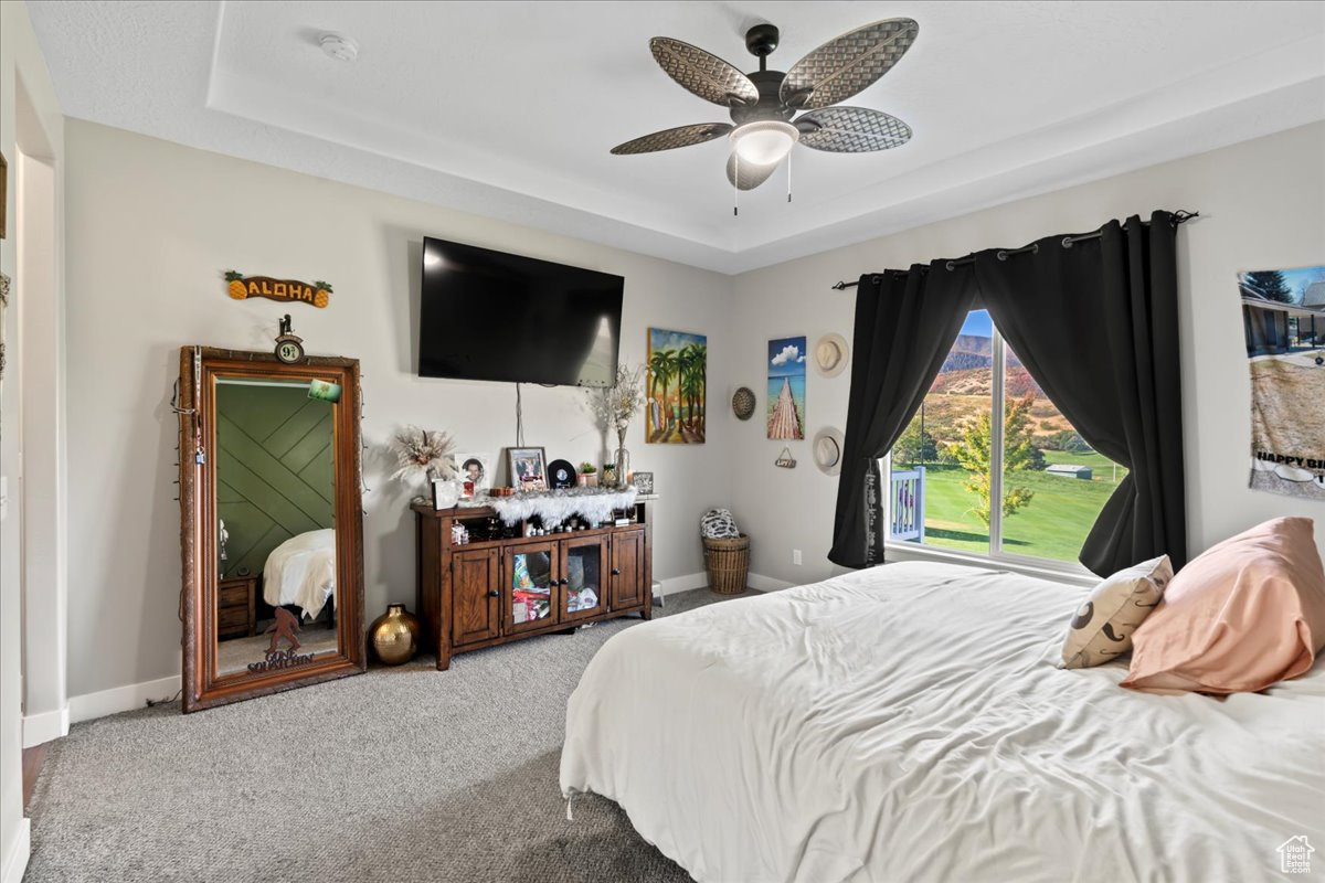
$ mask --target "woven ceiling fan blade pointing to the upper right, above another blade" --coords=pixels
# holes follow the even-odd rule
[[[779,98],[804,110],[845,101],[892,70],[917,33],[914,19],[885,19],[829,40],[791,66]]]

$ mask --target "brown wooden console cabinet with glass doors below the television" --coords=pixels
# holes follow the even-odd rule
[[[586,622],[652,616],[652,524],[637,502],[631,524],[542,536],[452,541],[456,523],[481,526],[492,508],[416,503],[417,598],[424,651],[450,657]],[[523,524],[517,530],[523,534]]]

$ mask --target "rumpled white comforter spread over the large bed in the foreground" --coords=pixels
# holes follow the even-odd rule
[[[1300,834],[1320,874],[1322,666],[1124,690],[1056,667],[1084,593],[890,564],[627,629],[570,699],[562,792],[701,882],[1283,880]]]

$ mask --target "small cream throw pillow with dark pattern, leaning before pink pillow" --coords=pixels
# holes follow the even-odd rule
[[[1118,571],[1077,608],[1063,645],[1064,669],[1086,669],[1132,649],[1132,633],[1159,605],[1173,579],[1167,555]]]

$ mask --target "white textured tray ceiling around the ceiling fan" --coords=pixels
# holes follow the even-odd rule
[[[131,3],[29,0],[65,113],[193,147],[735,273],[1325,118],[1321,3]],[[908,123],[878,154],[798,148],[741,195],[725,122],[652,36],[786,70],[878,19],[914,48],[851,99]],[[327,58],[323,32],[360,45]]]

